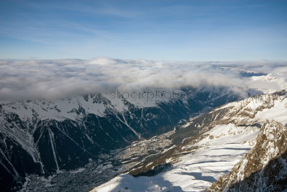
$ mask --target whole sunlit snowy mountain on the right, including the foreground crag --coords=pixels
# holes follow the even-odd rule
[[[169,137],[177,143],[172,149],[92,191],[285,189],[286,106],[282,91],[214,108],[177,128]]]

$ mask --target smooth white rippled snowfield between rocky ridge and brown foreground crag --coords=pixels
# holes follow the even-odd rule
[[[228,174],[245,156],[255,145],[254,138],[258,133],[259,128],[254,127],[235,127],[233,124],[216,126],[206,134],[218,138],[207,137],[196,143],[199,149],[181,157],[171,170],[153,177],[122,174],[93,191],[204,191]],[[191,147],[195,146],[185,146]]]

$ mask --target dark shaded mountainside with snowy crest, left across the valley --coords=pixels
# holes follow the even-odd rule
[[[1,188],[22,186],[26,174],[51,175],[84,166],[100,153],[170,131],[202,108],[192,99],[140,106],[124,98],[99,100],[92,94],[57,102],[1,104]]]

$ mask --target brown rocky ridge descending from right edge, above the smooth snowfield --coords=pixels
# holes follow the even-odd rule
[[[234,127],[246,127],[245,129],[254,127],[253,129],[259,129],[265,120],[257,118],[255,115],[264,109],[268,110],[274,107],[275,103],[285,107],[287,102],[285,94],[286,90],[282,90],[281,92],[256,95],[245,100],[228,103],[214,108],[184,126],[177,126],[175,134],[170,135],[170,139],[172,139],[176,147],[164,154],[146,159],[143,164],[131,168],[129,174],[138,175],[141,172],[147,172],[159,164],[164,164],[166,159],[169,158],[174,159],[176,163],[180,156],[199,148],[194,146],[185,149],[183,148],[185,145],[197,143],[206,137],[212,137],[212,135],[205,133],[216,126],[232,124]]]

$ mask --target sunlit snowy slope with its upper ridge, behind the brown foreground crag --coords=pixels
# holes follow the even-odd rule
[[[172,163],[170,170],[152,177],[122,174],[92,191],[118,192],[125,191],[125,187],[137,192],[204,191],[220,177],[228,174],[256,145],[260,123],[266,119],[287,123],[286,102],[286,92],[283,91],[254,96],[215,108],[202,116],[216,115],[213,123],[215,126],[204,132],[201,139],[183,146],[185,151],[190,149],[190,153],[179,156],[177,163]],[[224,115],[220,116],[220,113]],[[191,123],[182,127],[187,129]],[[257,123],[258,127],[254,126],[254,123]],[[199,124],[198,128],[200,127],[204,127],[204,123]],[[172,160],[166,159],[166,163],[169,162]]]

